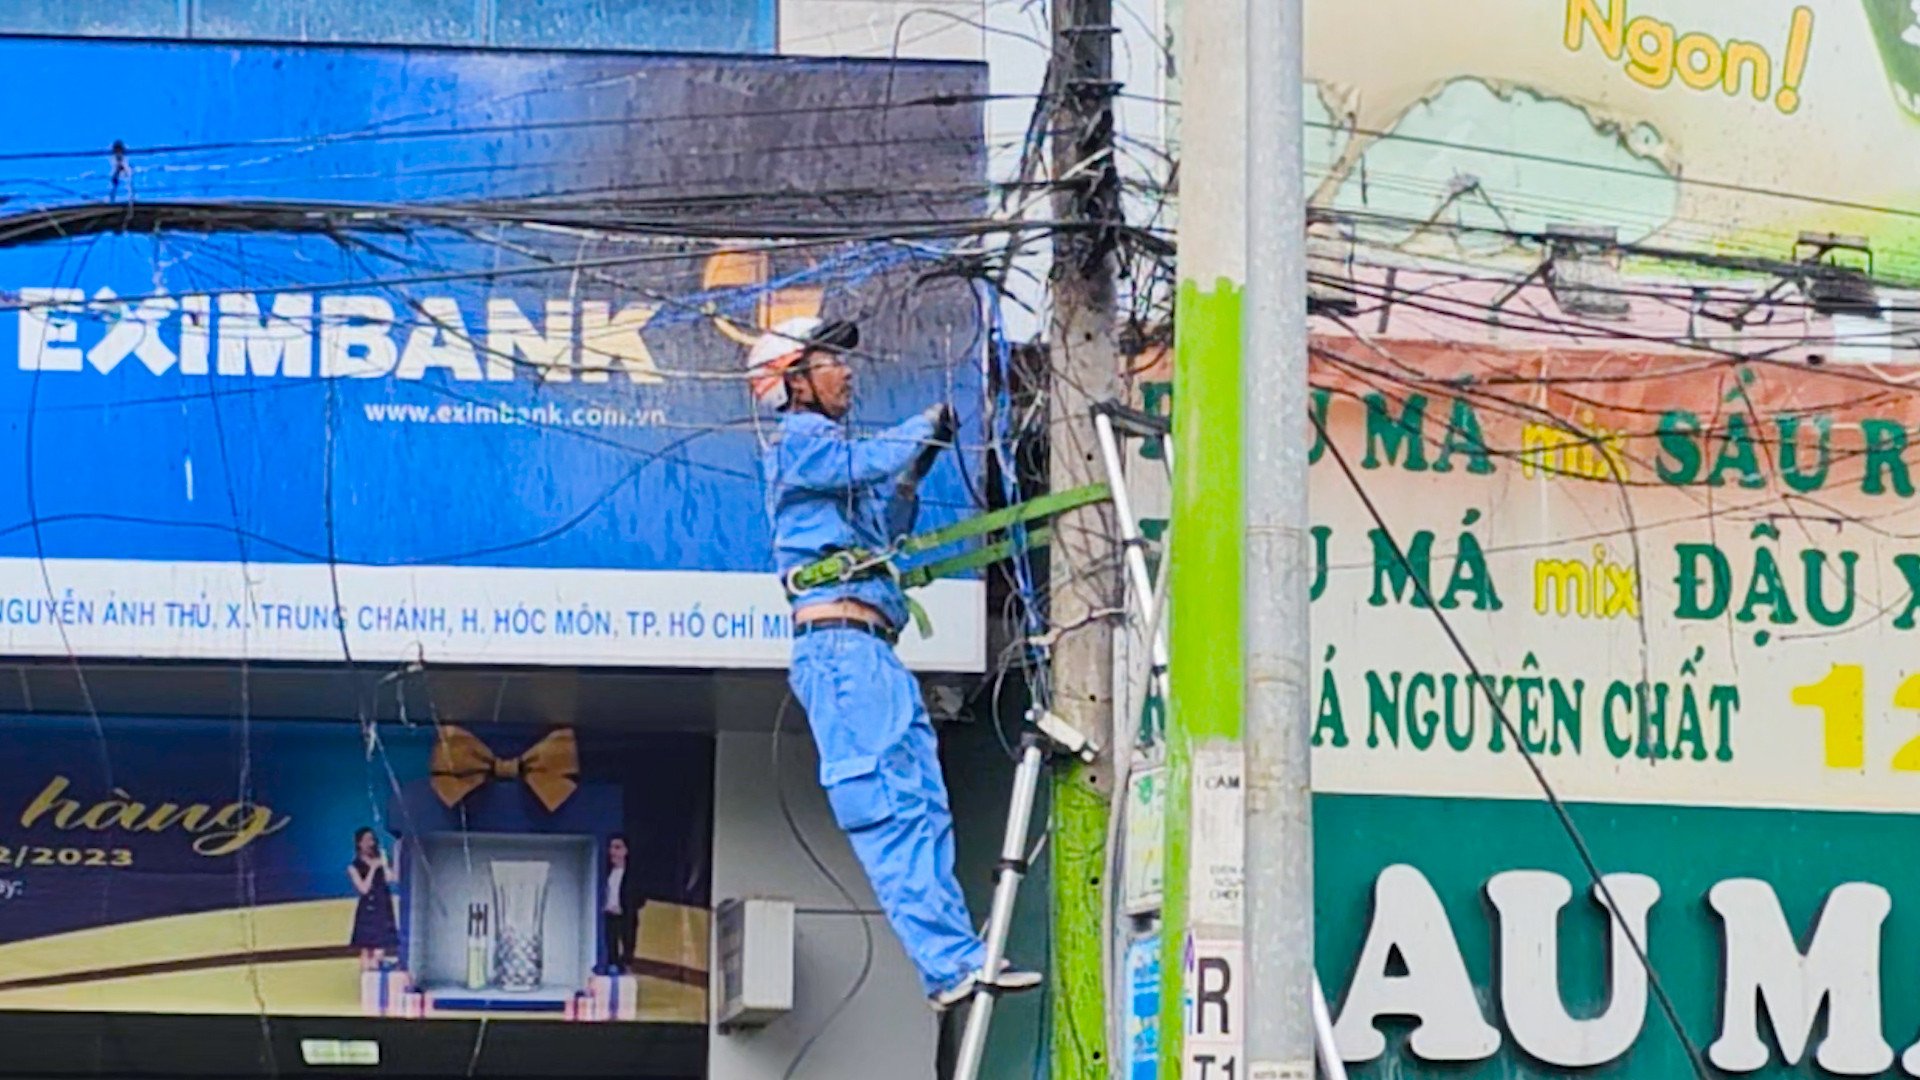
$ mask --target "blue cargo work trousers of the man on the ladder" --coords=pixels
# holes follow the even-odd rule
[[[860,630],[793,642],[793,694],[820,748],[833,819],[929,995],[985,963],[954,878],[954,822],[920,682],[893,646]]]

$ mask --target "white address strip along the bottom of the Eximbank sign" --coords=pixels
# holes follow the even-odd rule
[[[985,586],[920,590],[914,671],[981,671]],[[772,573],[0,559],[0,653],[138,659],[785,667]]]

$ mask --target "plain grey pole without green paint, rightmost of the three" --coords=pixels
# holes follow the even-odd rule
[[[1302,0],[1246,12],[1246,1059],[1313,1080]]]

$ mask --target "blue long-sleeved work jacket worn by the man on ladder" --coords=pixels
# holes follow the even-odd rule
[[[774,565],[781,578],[843,548],[885,548],[914,527],[918,496],[900,479],[933,438],[925,415],[879,434],[852,438],[847,427],[812,411],[780,419],[766,448],[768,513],[774,519]],[[891,577],[806,590],[793,607],[858,600],[893,625],[906,625],[906,594]]]

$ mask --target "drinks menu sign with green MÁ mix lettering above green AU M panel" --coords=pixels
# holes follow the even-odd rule
[[[1369,375],[1382,356],[1419,377]],[[1615,357],[1642,377],[1605,384],[1576,359],[1315,340],[1315,919],[1342,1057],[1920,1076],[1920,417],[1853,367]],[[1238,1007],[1206,945],[1188,1051]]]

